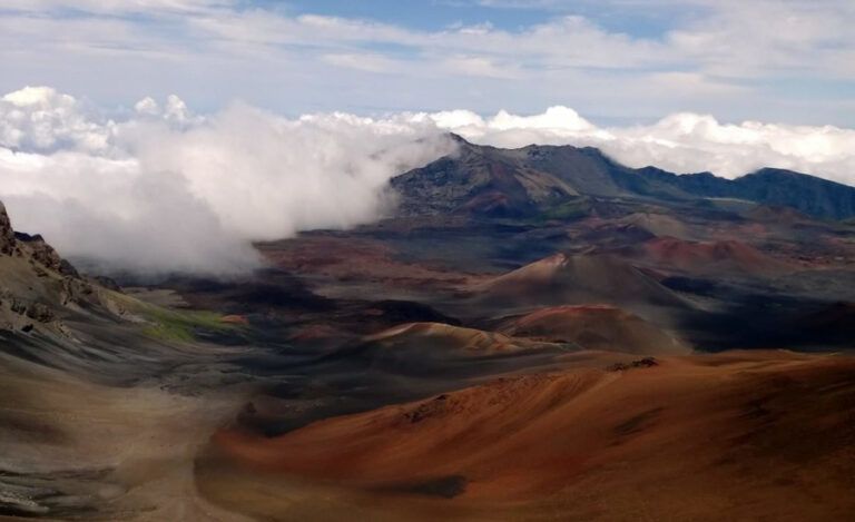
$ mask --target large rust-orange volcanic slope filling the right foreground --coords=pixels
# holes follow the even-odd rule
[[[855,512],[855,360],[770,351],[658,362],[501,378],[278,437],[229,430],[214,441],[243,473],[434,495],[478,520]]]

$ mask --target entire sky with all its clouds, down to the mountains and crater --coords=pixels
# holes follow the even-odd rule
[[[102,270],[243,273],[454,152],[855,185],[852,0],[0,0],[0,200]]]

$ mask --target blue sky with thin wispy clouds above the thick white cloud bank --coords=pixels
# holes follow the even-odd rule
[[[0,90],[855,126],[851,0],[6,0]]]

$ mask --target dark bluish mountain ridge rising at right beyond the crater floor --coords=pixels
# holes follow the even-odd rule
[[[400,214],[531,217],[596,197],[666,204],[738,199],[819,219],[855,216],[855,187],[793,170],[761,168],[736,179],[708,171],[678,175],[652,166],[630,168],[594,147],[502,149],[456,135],[452,139],[453,154],[392,179]]]

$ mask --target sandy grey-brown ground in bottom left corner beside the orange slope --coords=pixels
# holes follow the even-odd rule
[[[194,396],[108,387],[3,358],[0,506],[88,520],[245,520],[202,500],[194,459],[245,402],[240,386]]]

